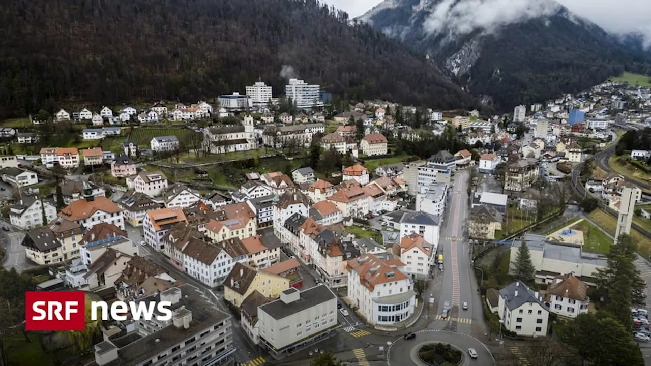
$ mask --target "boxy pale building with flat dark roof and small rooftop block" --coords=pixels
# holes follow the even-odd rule
[[[307,345],[331,335],[337,324],[337,296],[324,285],[283,290],[278,300],[258,307],[260,345],[282,353],[290,345]]]

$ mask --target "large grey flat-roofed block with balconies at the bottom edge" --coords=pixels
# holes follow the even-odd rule
[[[172,320],[128,320],[120,328],[135,341],[119,342],[120,335],[104,335],[94,345],[91,366],[117,365],[232,365],[234,363],[231,318],[217,310],[203,292],[189,284],[171,287],[137,302],[172,303]]]

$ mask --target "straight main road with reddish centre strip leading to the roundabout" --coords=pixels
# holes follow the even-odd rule
[[[449,301],[452,309],[446,329],[471,335],[473,323],[481,329],[486,327],[465,233],[469,216],[468,184],[468,171],[456,173],[450,200],[445,208],[439,240],[439,253],[443,254],[443,281],[439,292],[438,314],[443,312],[444,303]],[[440,273],[437,274],[437,277],[440,276]],[[464,302],[468,303],[467,310],[462,309]]]

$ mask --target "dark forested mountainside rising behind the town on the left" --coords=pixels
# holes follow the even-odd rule
[[[316,0],[30,0],[0,7],[0,118],[159,98],[192,102],[288,77],[346,98],[475,100],[435,64]]]

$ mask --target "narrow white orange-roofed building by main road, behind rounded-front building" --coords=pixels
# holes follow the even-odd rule
[[[405,264],[402,272],[411,275],[411,278],[427,279],[435,262],[436,250],[436,246],[430,245],[419,234],[400,239],[400,262]]]

